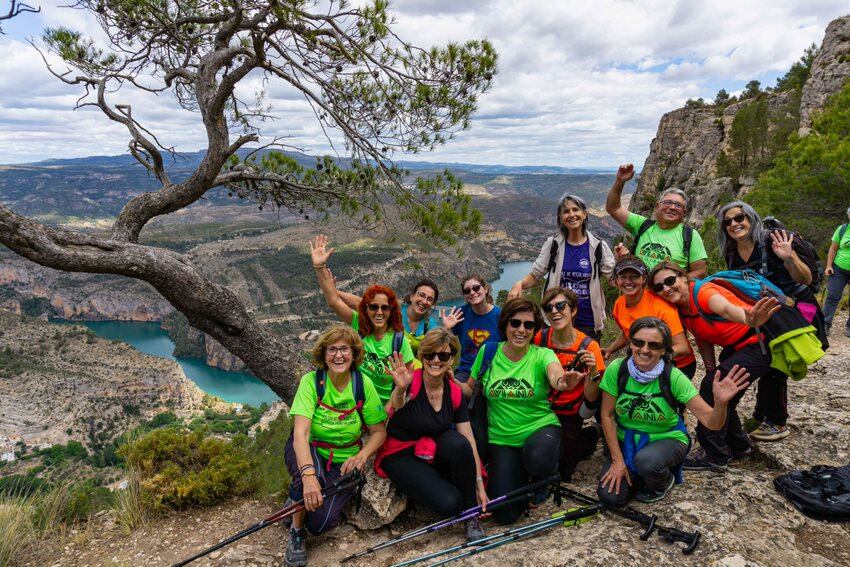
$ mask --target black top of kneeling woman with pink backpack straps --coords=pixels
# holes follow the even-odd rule
[[[416,441],[420,437],[437,437],[451,427],[452,423],[469,421],[469,411],[461,398],[457,410],[452,407],[452,395],[448,384],[443,385],[443,406],[434,411],[428,401],[425,384],[412,400],[397,410],[387,424],[387,434],[399,441]]]

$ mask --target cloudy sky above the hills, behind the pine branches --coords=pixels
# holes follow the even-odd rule
[[[38,0],[31,0],[38,3]],[[25,39],[64,25],[96,34],[85,14],[44,0],[40,14],[5,22],[0,36],[0,163],[112,155],[127,136],[81,94],[49,75]],[[0,0],[6,9],[7,0]],[[499,73],[472,127],[415,159],[481,164],[616,167],[642,164],[665,112],[758,79],[773,85],[811,43],[820,45],[846,0],[395,0],[397,33],[420,46],[486,37]],[[252,85],[246,85],[250,88]],[[328,151],[312,113],[279,85],[267,135]],[[160,140],[201,149],[196,115],[167,96],[114,95]]]

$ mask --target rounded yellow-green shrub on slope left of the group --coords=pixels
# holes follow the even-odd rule
[[[155,509],[209,506],[257,484],[255,459],[201,431],[157,429],[119,449]]]

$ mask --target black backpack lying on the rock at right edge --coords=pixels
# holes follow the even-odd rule
[[[850,464],[791,471],[774,478],[773,486],[810,518],[850,521]]]

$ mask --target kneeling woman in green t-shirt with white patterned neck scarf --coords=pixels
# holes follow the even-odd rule
[[[631,353],[615,360],[602,378],[602,431],[610,455],[599,475],[597,494],[609,506],[632,496],[641,502],[664,498],[690,446],[681,409],[686,407],[707,428],[726,422],[726,406],[749,385],[745,368],[733,366],[725,378],[717,371],[712,384],[714,407],[673,364],[673,338],[667,323],[642,317],[629,328]],[[675,471],[675,474],[674,472]]]

